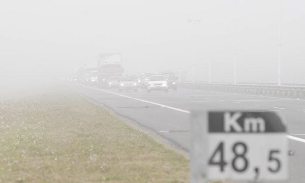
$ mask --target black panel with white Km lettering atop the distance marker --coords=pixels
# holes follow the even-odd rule
[[[208,112],[209,133],[283,133],[286,126],[272,111],[215,111]]]

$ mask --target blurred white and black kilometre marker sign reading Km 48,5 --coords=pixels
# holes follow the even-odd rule
[[[288,140],[275,111],[194,111],[191,182],[288,179]]]

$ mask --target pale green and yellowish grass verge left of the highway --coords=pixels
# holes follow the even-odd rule
[[[188,182],[189,161],[61,89],[0,100],[0,182]]]

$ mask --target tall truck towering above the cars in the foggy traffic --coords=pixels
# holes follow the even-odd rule
[[[100,53],[98,56],[98,85],[108,86],[110,76],[121,76],[124,72],[121,53]]]

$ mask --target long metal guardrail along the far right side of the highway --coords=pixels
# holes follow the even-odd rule
[[[305,98],[305,86],[179,82],[179,87],[225,93]]]

